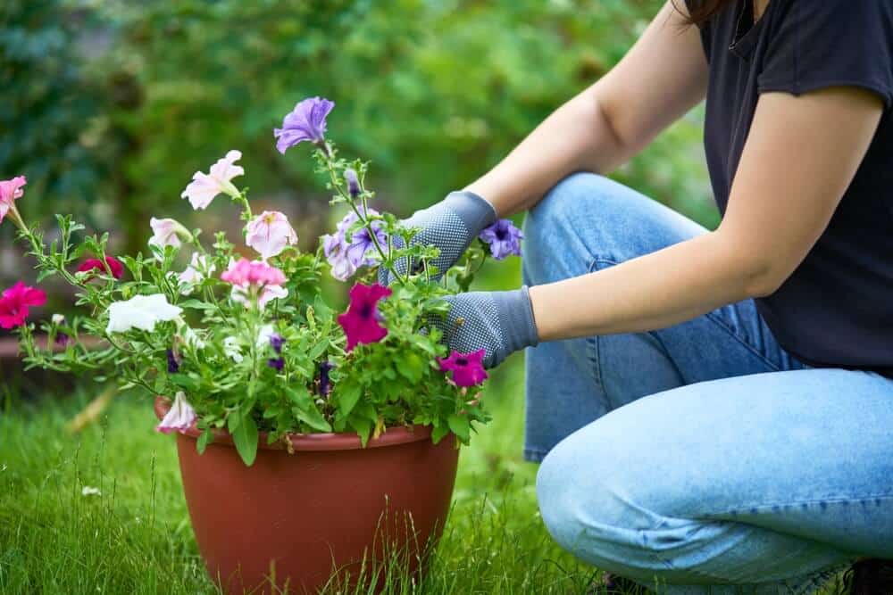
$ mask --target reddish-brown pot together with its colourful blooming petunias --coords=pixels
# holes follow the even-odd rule
[[[29,367],[111,371],[122,388],[156,396],[157,429],[177,436],[199,550],[227,591],[314,591],[388,550],[415,567],[447,516],[458,445],[488,419],[482,354],[447,354],[437,324],[442,298],[468,288],[488,246],[435,269],[437,248],[413,244],[418,230],[369,206],[367,163],[339,157],[325,138],[333,105],[297,103],[275,131],[282,153],[313,144],[331,203],[347,207],[315,252],[298,250],[282,213],[252,211],[233,183],[244,175],[238,151],[182,194],[196,210],[221,194],[238,205],[237,244],[152,219],[146,254],[114,256],[108,234],[82,236],[57,216],[47,245],[15,208],[25,178],[0,182],[0,220],[19,227],[38,282],[63,277],[83,311],[40,325],[61,351],[38,347],[26,318],[46,296],[18,283],[0,297],[0,326],[16,329]],[[355,280],[343,313],[321,292],[327,263]]]

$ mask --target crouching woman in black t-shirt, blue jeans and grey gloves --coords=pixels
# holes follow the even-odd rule
[[[598,175],[705,97],[713,232]],[[525,455],[564,548],[669,593],[805,591],[854,561],[854,589],[893,592],[891,102],[889,0],[668,2],[413,215],[443,269],[529,210],[525,287],[455,297],[444,328],[490,366],[538,345]]]

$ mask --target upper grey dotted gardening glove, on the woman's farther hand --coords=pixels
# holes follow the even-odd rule
[[[496,220],[497,211],[492,204],[473,192],[463,190],[451,192],[437,204],[415,211],[412,217],[404,221],[404,225],[421,227],[421,231],[410,241],[411,245],[426,244],[440,249],[440,256],[430,261],[438,268],[437,277],[440,277],[462,256],[484,227],[492,225]],[[395,237],[394,247],[402,248],[403,240]],[[405,274],[408,264],[407,259],[397,261],[396,269],[401,275]],[[413,266],[417,266],[416,263]],[[379,269],[379,281],[382,285],[389,285],[394,281],[393,277],[387,269]]]

